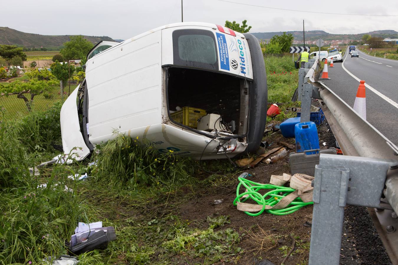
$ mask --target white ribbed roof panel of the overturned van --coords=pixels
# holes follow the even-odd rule
[[[93,144],[114,130],[162,123],[161,31],[129,39],[87,61],[89,134]]]

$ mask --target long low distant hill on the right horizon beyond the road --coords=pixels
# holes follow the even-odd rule
[[[302,41],[302,31],[286,31],[286,34],[291,33],[295,40]],[[257,39],[269,40],[274,35],[283,35],[282,31],[277,32],[257,32],[252,33],[256,36]],[[378,30],[378,31],[371,31],[367,33],[359,33],[359,34],[330,34],[323,30],[312,30],[305,32],[305,39],[315,41],[319,38],[323,39],[324,41],[331,41],[331,40],[360,40],[364,34],[369,34],[372,37],[383,37],[387,38],[390,37],[392,39],[398,38],[398,32],[394,30]]]

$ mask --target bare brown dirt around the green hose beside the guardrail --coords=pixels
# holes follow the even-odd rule
[[[285,141],[295,146],[294,138],[285,138],[281,134],[267,136],[263,140],[270,143],[267,150],[276,147],[277,141]],[[289,153],[294,151],[289,150]],[[312,220],[312,206],[305,206],[290,215],[277,216],[269,213],[263,213],[257,217],[246,215],[233,205],[236,198],[237,178],[241,172],[250,173],[252,176],[248,179],[252,181],[269,183],[271,175],[290,173],[289,156],[274,164],[259,163],[255,168],[243,169],[235,174],[234,184],[196,194],[187,203],[179,206],[181,219],[189,220],[193,226],[205,227],[208,216],[229,216],[230,224],[225,227],[233,228],[242,237],[239,246],[244,253],[239,264],[254,264],[255,257],[258,261],[268,259],[275,264],[280,264],[284,255],[291,249],[290,235],[293,235],[297,242],[296,247],[285,264],[305,264],[308,259],[311,227],[304,226],[304,223],[310,223]],[[222,203],[214,204],[215,200],[222,200]]]

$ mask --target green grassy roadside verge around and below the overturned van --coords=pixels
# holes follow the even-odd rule
[[[278,121],[291,115],[289,107],[298,105],[290,102],[297,70],[290,56],[265,61],[269,102],[283,103]],[[249,264],[253,257],[282,256],[288,249],[277,241],[292,231],[308,240],[301,223],[293,222],[298,213],[277,218],[262,215],[255,220],[237,213],[231,204],[240,172],[229,161],[199,164],[172,152],[159,155],[137,137],[118,135],[98,146],[101,152],[87,161],[48,166],[40,169],[39,176],[31,176],[29,167],[59,153],[53,144],[60,144],[60,106],[35,108],[15,120],[8,118],[6,110],[0,117],[4,198],[0,201],[0,264],[40,264],[45,257],[66,254],[64,241],[79,221],[103,221],[103,226],[114,226],[117,233],[117,240],[105,250],[79,255],[79,264]],[[93,161],[96,166],[87,166]],[[208,174],[202,167],[218,173]],[[86,172],[90,178],[85,181],[66,177]],[[212,196],[226,196],[226,201],[217,208],[208,202]],[[254,222],[258,222],[256,229],[251,227]],[[290,244],[287,241],[286,246]],[[308,256],[307,241],[302,244],[292,254],[293,259],[300,257],[298,263]]]

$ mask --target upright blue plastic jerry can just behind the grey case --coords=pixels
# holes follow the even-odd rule
[[[314,122],[302,122],[295,125],[296,151],[319,149],[319,137]],[[311,152],[310,155],[317,152]]]

